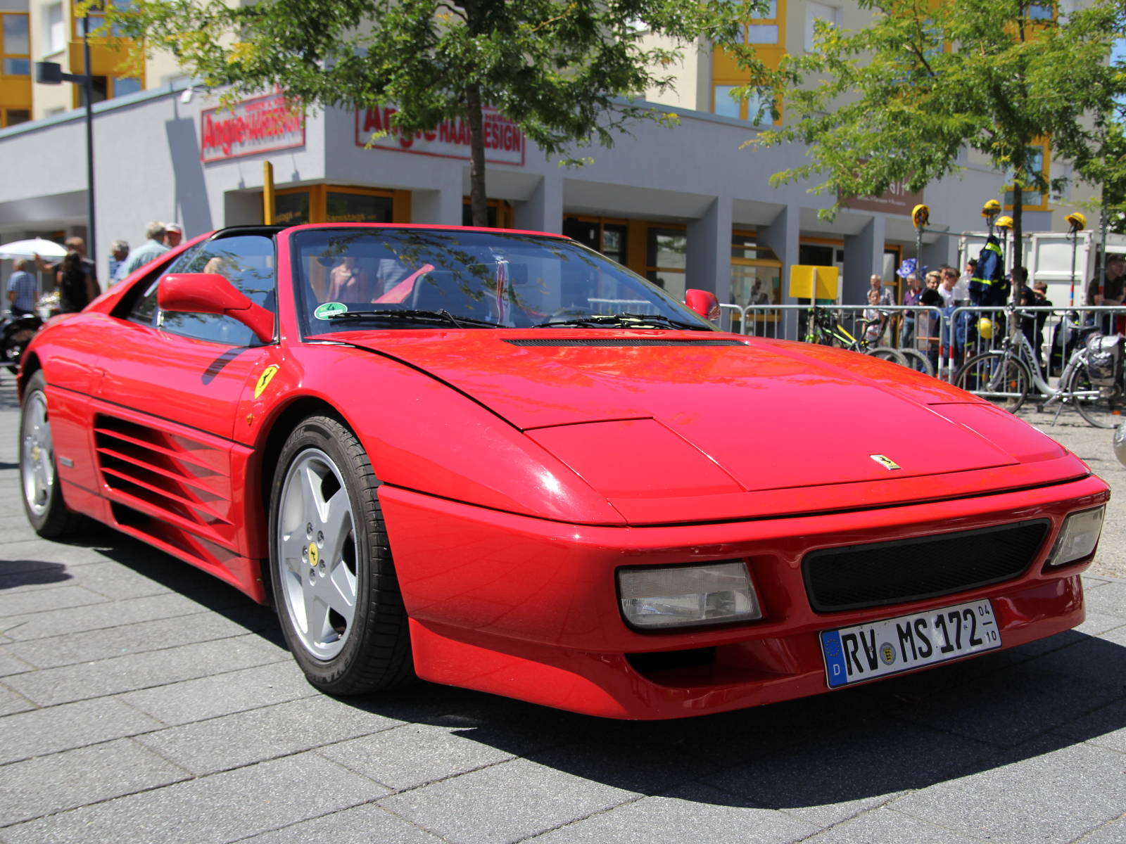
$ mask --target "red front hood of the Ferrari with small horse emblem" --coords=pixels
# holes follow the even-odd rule
[[[332,336],[470,396],[619,510],[633,502],[625,508],[637,511],[629,521],[642,510],[652,517],[645,521],[663,510],[679,521],[674,506],[658,506],[661,500],[703,496],[718,506],[734,496],[734,514],[745,515],[748,508],[761,513],[765,501],[777,510],[784,491],[823,491],[819,502],[789,496],[790,508],[808,511],[848,505],[857,495],[859,505],[870,505],[1088,474],[1053,440],[962,390],[824,347],[652,331]],[[1054,468],[1022,472],[1034,464]]]

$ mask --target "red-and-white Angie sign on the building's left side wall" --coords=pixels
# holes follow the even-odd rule
[[[199,113],[199,160],[226,161],[305,145],[304,115],[279,91]]]

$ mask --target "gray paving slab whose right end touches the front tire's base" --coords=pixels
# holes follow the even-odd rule
[[[166,724],[179,725],[318,694],[297,664],[288,659],[129,692],[122,700]]]

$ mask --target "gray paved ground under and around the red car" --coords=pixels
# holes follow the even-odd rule
[[[723,716],[334,700],[234,590],[109,530],[36,538],[2,384],[0,841],[1126,841],[1126,582],[1085,578],[1076,631]],[[1109,431],[1028,417],[1126,487]],[[1111,510],[1098,571],[1126,574]]]

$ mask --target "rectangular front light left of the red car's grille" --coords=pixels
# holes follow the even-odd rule
[[[631,627],[654,629],[762,618],[742,560],[618,569],[622,614]]]

